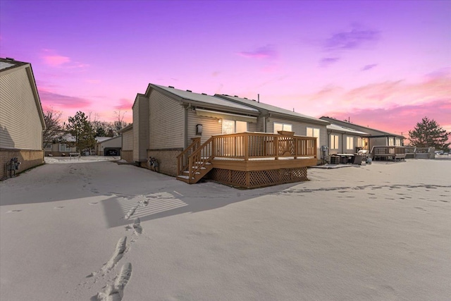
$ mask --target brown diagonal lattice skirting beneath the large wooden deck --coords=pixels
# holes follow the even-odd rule
[[[212,180],[241,188],[259,188],[308,180],[307,167],[279,168],[268,171],[233,171],[214,168],[210,175]]]

